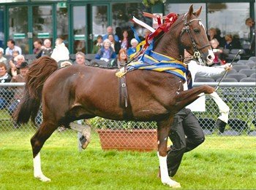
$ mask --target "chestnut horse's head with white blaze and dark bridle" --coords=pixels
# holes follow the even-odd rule
[[[214,52],[211,50],[211,45],[206,35],[206,28],[198,18],[201,9],[202,7],[194,12],[193,5],[191,5],[189,12],[182,17],[184,25],[179,34],[180,43],[181,47],[185,48],[191,55],[194,55],[200,63],[202,63],[203,59],[204,62],[211,65],[214,60]]]

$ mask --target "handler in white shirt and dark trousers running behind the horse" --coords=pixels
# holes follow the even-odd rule
[[[191,55],[185,50],[184,58],[189,58]],[[219,67],[200,66],[195,60],[188,63],[188,69],[191,73],[191,81],[194,82],[195,75],[197,76],[216,76],[222,75],[225,71],[230,71],[231,66],[225,64]],[[184,90],[189,88],[187,82],[184,83]],[[173,177],[185,152],[192,151],[205,140],[203,130],[192,111],[189,108],[183,108],[179,111],[173,120],[173,125],[170,129],[169,138],[173,145],[167,148],[167,168],[168,173]]]

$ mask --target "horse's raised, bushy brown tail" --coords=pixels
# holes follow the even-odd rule
[[[31,117],[31,121],[35,124],[42,100],[42,87],[46,79],[57,69],[56,61],[48,56],[34,60],[26,75],[23,99],[14,113],[16,122],[27,123]]]

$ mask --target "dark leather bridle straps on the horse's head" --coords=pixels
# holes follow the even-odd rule
[[[193,47],[193,50],[194,50],[194,55],[193,57],[194,58],[197,58],[199,60],[199,62],[202,62],[202,58],[201,58],[201,54],[200,54],[200,50],[203,50],[203,48],[205,47],[208,47],[208,46],[211,46],[209,43],[206,44],[206,45],[203,45],[202,47],[200,48],[197,48],[197,45],[198,43],[196,43],[195,39],[193,38],[192,36],[192,33],[190,31],[190,28],[189,28],[189,25],[190,23],[192,23],[193,21],[200,21],[201,19],[199,18],[194,18],[192,20],[189,20],[189,22],[187,22],[187,14],[184,16],[184,18],[182,19],[184,20],[184,27],[181,29],[181,34],[180,34],[180,38],[181,36],[184,34],[184,32],[187,32],[189,34],[189,37],[190,37],[190,40],[192,42],[192,47]]]

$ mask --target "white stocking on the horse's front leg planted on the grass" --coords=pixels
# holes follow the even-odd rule
[[[167,169],[167,157],[161,157],[159,156],[159,152],[157,152],[158,158],[159,158],[159,164],[160,164],[160,172],[161,172],[161,181],[164,185],[174,187],[174,188],[180,188],[181,184],[173,181],[170,179],[168,175],[168,169]]]

